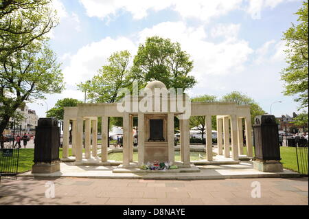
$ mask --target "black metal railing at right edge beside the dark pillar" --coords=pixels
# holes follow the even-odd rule
[[[300,174],[308,175],[308,141],[296,144],[297,168]]]

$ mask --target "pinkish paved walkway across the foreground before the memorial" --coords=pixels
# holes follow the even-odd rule
[[[45,198],[47,182],[55,198]],[[261,198],[251,198],[258,182]],[[308,205],[308,178],[144,180],[105,178],[2,179],[0,205]]]

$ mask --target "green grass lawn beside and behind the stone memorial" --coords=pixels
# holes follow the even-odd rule
[[[84,152],[84,149],[83,149]],[[246,154],[246,148],[244,148],[244,154]],[[190,152],[191,161],[201,160],[198,154],[201,154],[203,159],[205,159],[205,152]],[[283,163],[284,168],[288,170],[298,171],[297,160],[296,160],[296,150],[294,147],[280,147],[281,163]],[[71,148],[69,148],[69,155],[71,155]],[[253,148],[254,155],[254,148]],[[59,150],[59,157],[62,158],[62,148]],[[19,150],[19,172],[25,172],[31,170],[34,159],[34,149],[21,148]],[[108,154],[109,160],[122,161],[122,152],[113,152]],[[180,161],[180,152],[175,151],[175,160]],[[137,161],[137,152],[133,153],[133,161]],[[0,163],[1,165],[1,163]]]

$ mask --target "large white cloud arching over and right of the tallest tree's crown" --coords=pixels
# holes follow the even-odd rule
[[[220,25],[220,27],[222,27]],[[237,36],[239,25],[231,25],[234,35]],[[172,30],[172,31],[171,31]],[[236,31],[237,30],[237,31]],[[181,43],[181,48],[190,54],[194,60],[192,75],[199,82],[205,82],[207,74],[226,74],[242,71],[244,62],[253,50],[248,42],[234,38],[224,38],[220,43],[207,41],[203,26],[188,27],[183,22],[159,23],[152,28],[139,32],[139,43],[148,36],[162,36]]]

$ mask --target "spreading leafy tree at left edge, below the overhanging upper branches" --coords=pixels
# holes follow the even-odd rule
[[[39,50],[17,50],[5,58],[0,65],[0,133],[23,102],[60,93],[62,80],[60,64],[47,45]]]

